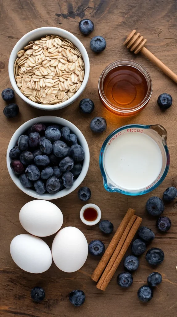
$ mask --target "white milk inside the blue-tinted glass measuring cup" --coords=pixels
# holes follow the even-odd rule
[[[122,190],[141,190],[159,176],[162,154],[149,135],[124,133],[107,147],[104,167],[111,181]]]

